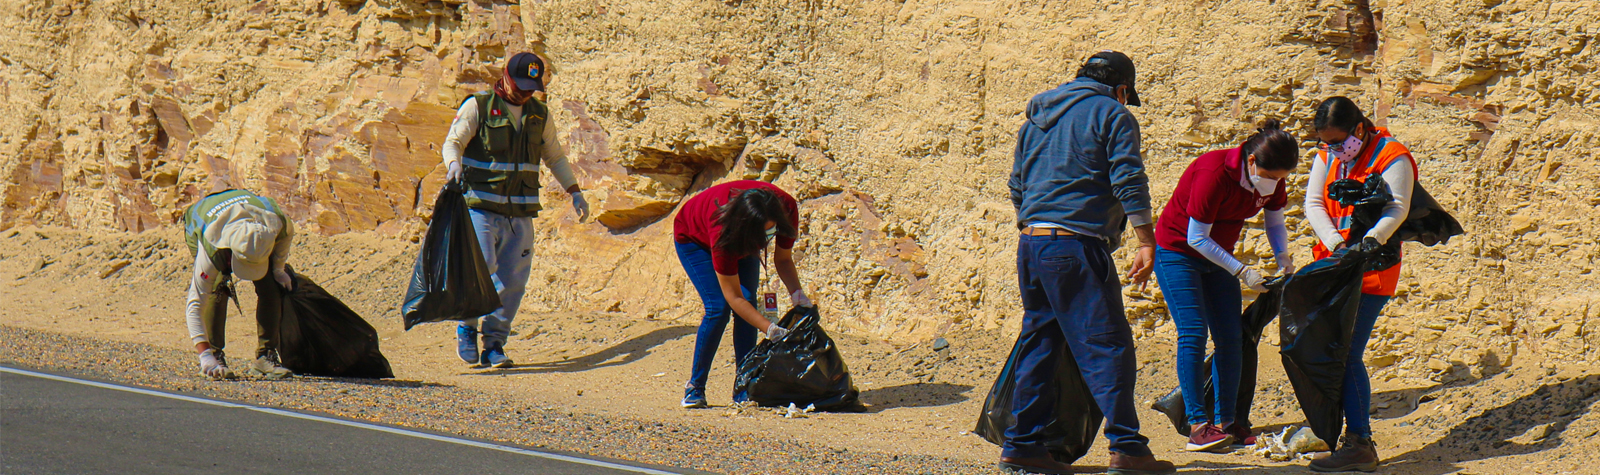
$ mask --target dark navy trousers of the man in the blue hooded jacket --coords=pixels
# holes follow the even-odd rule
[[[1045,424],[1056,397],[1045,393],[1056,377],[1058,352],[1070,350],[1094,403],[1106,413],[1110,449],[1149,456],[1134,405],[1138,361],[1133,328],[1122,310],[1122,283],[1106,241],[1093,237],[1021,237],[1016,273],[1022,291],[1022,334],[1013,393],[1016,425],[1006,429],[1003,457],[1048,457]]]

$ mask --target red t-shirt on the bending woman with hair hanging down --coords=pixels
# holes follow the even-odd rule
[[[742,190],[749,189],[766,189],[778,195],[778,200],[784,203],[784,211],[789,214],[789,222],[795,229],[800,229],[800,205],[795,198],[786,194],[782,189],[774,187],[765,181],[731,181],[720,186],[714,186],[699,192],[688,202],[683,202],[683,210],[678,211],[678,218],[672,221],[672,234],[678,243],[696,243],[710,249],[710,265],[717,269],[722,275],[738,275],[739,259],[746,256],[726,256],[717,249],[717,237],[722,235],[722,226],[717,226],[717,210],[726,205],[730,198],[736,197]],[[790,237],[778,237],[778,246],[784,249],[794,249],[795,240]]]

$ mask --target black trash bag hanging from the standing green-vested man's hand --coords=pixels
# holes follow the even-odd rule
[[[467,198],[461,195],[461,184],[448,182],[434,202],[434,219],[411,267],[411,286],[400,309],[405,329],[418,323],[478,318],[499,305],[467,214]]]

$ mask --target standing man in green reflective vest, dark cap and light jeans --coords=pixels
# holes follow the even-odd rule
[[[501,297],[498,310],[456,326],[456,355],[467,365],[512,365],[506,357],[506,337],[533,270],[533,218],[542,210],[541,162],[571,197],[578,221],[589,218],[589,202],[578,189],[544,102],[549,74],[544,58],[517,53],[506,62],[493,91],[461,101],[445,138],[446,179],[464,184],[472,227]]]

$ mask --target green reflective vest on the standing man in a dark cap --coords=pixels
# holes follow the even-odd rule
[[[461,150],[467,206],[512,218],[538,216],[539,158],[549,107],[528,99],[522,104],[522,117],[510,117],[510,104],[494,91],[472,94],[467,101],[478,104],[478,131]],[[522,122],[520,131],[512,120]]]

